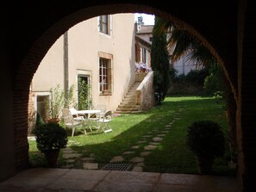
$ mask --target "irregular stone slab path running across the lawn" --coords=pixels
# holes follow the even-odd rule
[[[159,146],[160,142],[165,139],[165,135],[170,133],[172,130],[172,124],[175,121],[181,119],[180,112],[182,109],[182,106],[180,106],[178,111],[175,112],[173,120],[166,125],[164,125],[161,122],[161,118],[159,118],[159,127],[154,127],[152,131],[142,135],[138,142],[134,144],[134,146],[131,146],[128,151],[123,152],[119,156],[111,158],[109,164],[132,164],[132,171],[142,172],[145,158],[147,158],[147,156]],[[79,145],[78,143],[74,143],[72,140],[69,141],[68,146],[71,144]],[[99,164],[97,164],[95,161],[93,153],[90,154],[90,157],[83,158],[82,153],[76,152],[70,147],[66,147],[62,152],[62,158],[66,159],[66,164],[64,164],[62,168],[76,168],[86,170],[100,169]],[[135,154],[139,154],[139,156],[136,156]]]

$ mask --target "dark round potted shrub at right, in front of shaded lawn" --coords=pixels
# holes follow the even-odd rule
[[[209,174],[214,159],[225,151],[222,127],[215,121],[194,121],[188,127],[186,144],[196,155],[198,173]]]

